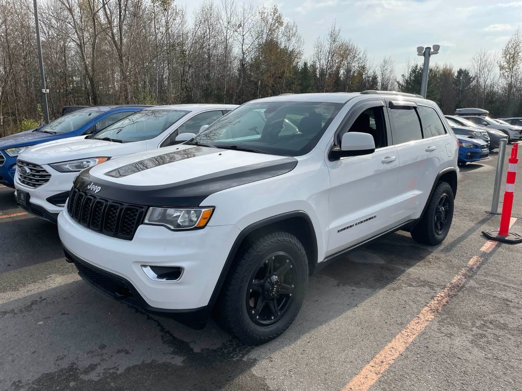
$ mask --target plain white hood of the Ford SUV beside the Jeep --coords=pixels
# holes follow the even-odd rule
[[[112,141],[86,139],[78,136],[64,140],[46,142],[23,151],[20,160],[51,164],[87,157],[115,157],[145,150],[145,142],[117,143]]]

